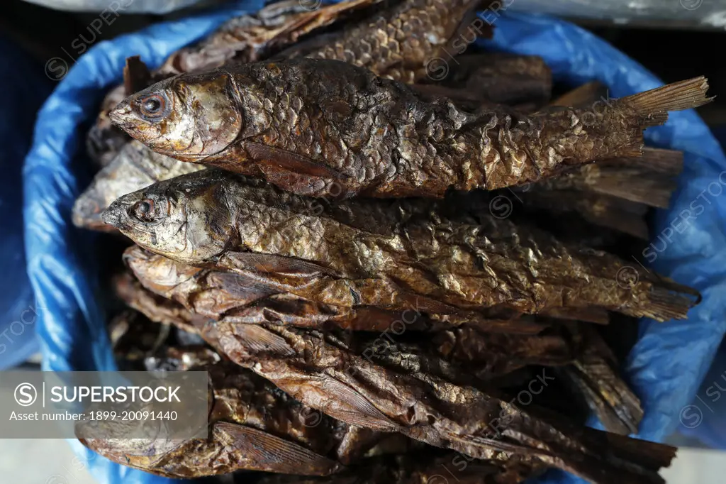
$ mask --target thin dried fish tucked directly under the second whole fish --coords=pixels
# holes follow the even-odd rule
[[[302,328],[338,327],[357,331],[387,331],[393,326],[405,326],[407,331],[437,331],[468,324],[507,334],[537,334],[547,328],[534,320],[507,320],[505,315],[497,320],[474,312],[463,312],[457,316],[425,315],[415,307],[396,312],[372,306],[338,307],[317,303],[284,293],[285,288],[268,285],[258,277],[184,265],[138,246],[129,247],[123,258],[144,288],[154,293],[124,299],[129,304],[136,304],[135,307],[152,307],[151,310],[141,310],[154,320],[164,320],[161,315],[181,312],[185,316],[179,318],[181,323],[175,324],[182,328],[184,321],[192,318],[190,314],[234,324],[267,322]],[[137,284],[134,289],[140,290]],[[150,302],[140,304],[144,301]],[[154,304],[168,309],[155,308]],[[174,323],[174,318],[167,316],[166,319]]]

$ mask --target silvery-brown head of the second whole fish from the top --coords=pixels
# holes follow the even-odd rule
[[[190,265],[204,262],[224,251],[234,217],[224,203],[224,184],[205,172],[211,170],[123,195],[103,221],[156,254]]]

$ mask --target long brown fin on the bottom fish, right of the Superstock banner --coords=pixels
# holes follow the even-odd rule
[[[213,437],[242,456],[244,469],[297,475],[330,475],[343,465],[275,435],[229,422],[216,422]],[[246,462],[245,462],[246,461]]]

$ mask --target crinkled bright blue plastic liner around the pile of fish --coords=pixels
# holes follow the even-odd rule
[[[38,336],[46,370],[114,367],[104,329],[104,314],[93,289],[93,235],[70,222],[73,200],[87,180],[78,180],[85,162],[81,124],[96,115],[107,87],[119,81],[124,58],[141,55],[152,66],[168,54],[211,31],[233,13],[256,10],[261,4],[242,2],[234,8],[152,28],[98,44],[57,86],[41,110],[36,137],[25,161],[25,243],[28,273],[36,297],[46,310],[38,322]],[[488,15],[491,19],[491,13]],[[642,66],[605,41],[574,25],[550,17],[505,12],[496,20],[494,49],[544,57],[558,81],[582,84],[598,79],[613,97],[651,89],[661,82]],[[684,150],[685,170],[672,208],[660,211],[656,233],[674,217],[703,198],[709,184],[719,185],[726,159],[717,141],[693,111],[673,113],[666,126],[648,129],[651,145]],[[726,184],[726,176],[722,177]],[[722,185],[719,185],[722,186]],[[712,187],[716,191],[716,187]],[[641,337],[627,362],[627,375],[645,406],[640,435],[662,440],[674,429],[678,414],[690,403],[703,379],[725,330],[725,302],[718,297],[725,286],[726,197],[706,193],[703,211],[677,233],[671,230],[665,248],[657,249],[652,267],[680,283],[695,286],[703,301],[687,321],[641,323]],[[700,198],[699,198],[700,197]],[[653,249],[655,251],[655,249]],[[640,257],[643,262],[643,257]],[[637,264],[635,260],[633,264]],[[78,443],[71,443],[79,453]],[[83,453],[83,456],[89,456]],[[88,467],[102,483],[159,483],[158,477],[126,469],[100,457]],[[574,482],[562,473],[547,482]]]

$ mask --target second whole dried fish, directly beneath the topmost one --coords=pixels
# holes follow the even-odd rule
[[[667,320],[685,318],[698,294],[505,219],[483,215],[474,225],[436,212],[412,216],[405,202],[375,206],[324,206],[208,169],[124,195],[103,217],[157,254],[342,307],[444,315],[599,307]]]

